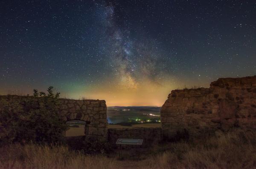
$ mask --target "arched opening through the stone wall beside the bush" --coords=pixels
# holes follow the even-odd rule
[[[67,121],[68,130],[66,131],[66,137],[76,137],[85,135],[86,121],[82,120],[70,120]]]

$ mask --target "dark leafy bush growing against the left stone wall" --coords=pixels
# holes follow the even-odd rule
[[[0,100],[0,144],[62,141],[67,125],[58,114],[60,93],[54,93],[52,86],[47,91],[46,95],[34,89],[33,96],[22,100]]]

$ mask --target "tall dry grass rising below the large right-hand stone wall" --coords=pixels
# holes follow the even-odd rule
[[[163,147],[162,147],[163,148]],[[219,138],[175,143],[169,151],[145,163],[157,169],[252,169],[256,168],[256,133],[231,132]],[[161,149],[155,147],[154,149]],[[159,162],[158,162],[159,161]]]

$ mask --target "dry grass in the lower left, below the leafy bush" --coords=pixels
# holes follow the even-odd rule
[[[114,159],[69,151],[67,146],[15,144],[0,149],[0,169],[111,169]]]

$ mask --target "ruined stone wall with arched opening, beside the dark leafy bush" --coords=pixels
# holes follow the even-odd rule
[[[9,102],[18,101],[25,109],[27,101],[33,99],[32,108],[39,108],[40,97],[33,96],[0,96],[0,99],[6,99]],[[72,100],[58,99],[59,114],[65,121],[82,120],[86,121],[85,135],[98,141],[107,141],[107,106],[104,100]],[[29,104],[31,106],[31,104]],[[0,107],[1,109],[1,107]]]

